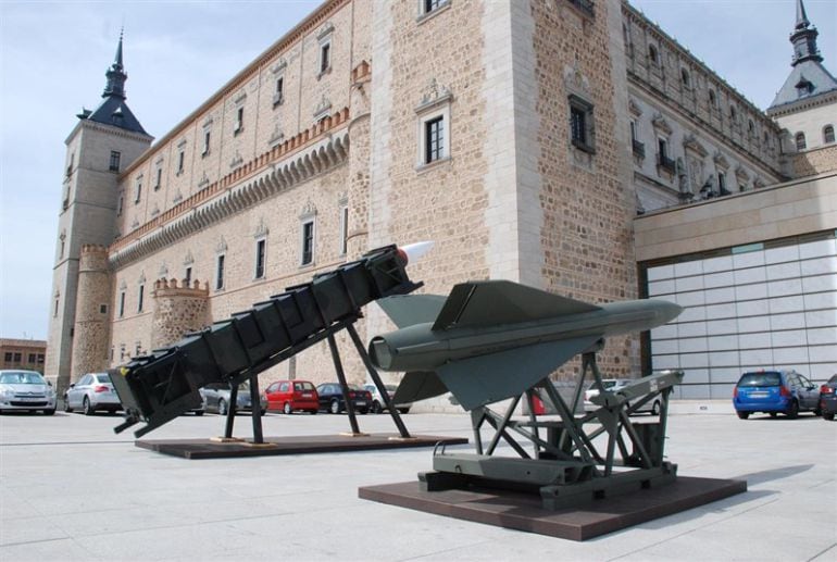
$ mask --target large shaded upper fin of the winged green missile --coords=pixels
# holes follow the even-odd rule
[[[600,310],[582,302],[509,280],[462,283],[453,287],[433,325],[434,330],[479,328]]]

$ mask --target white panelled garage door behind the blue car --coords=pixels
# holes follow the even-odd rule
[[[649,298],[684,308],[651,330],[654,370],[683,369],[675,398],[732,398],[742,372],[837,373],[835,233],[754,243],[646,268]]]

